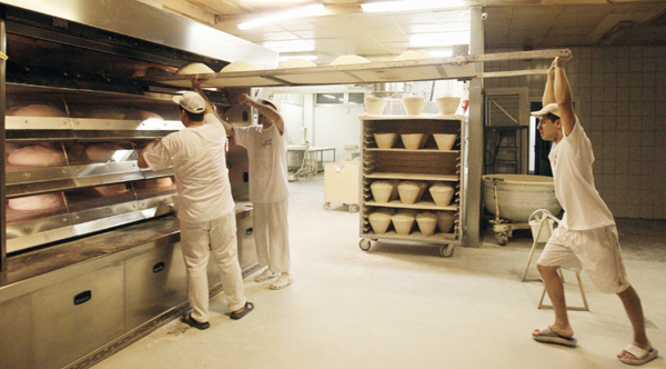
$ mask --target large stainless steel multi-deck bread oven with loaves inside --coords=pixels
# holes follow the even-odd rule
[[[141,10],[147,29],[175,19],[124,0],[87,11],[114,6]],[[9,56],[0,69],[0,368],[83,368],[186,309],[173,170],[137,164],[145,144],[184,128],[172,102],[182,89],[145,77],[229,62],[18,7],[0,12],[0,51]],[[208,92],[220,116],[243,126],[251,114],[238,96],[249,91]],[[226,157],[249,275],[256,256],[248,156],[230,141]],[[213,292],[219,282],[210,278]]]

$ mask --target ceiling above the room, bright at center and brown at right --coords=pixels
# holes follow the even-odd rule
[[[266,14],[317,3],[311,0],[143,0],[226,33],[284,53],[303,49],[327,64],[342,54],[371,60],[392,60],[427,47],[433,38],[468,43],[467,7],[456,10],[422,10],[402,13],[364,13],[367,0],[323,0],[332,14],[292,19],[240,30],[238,24]],[[446,1],[446,0],[441,0]],[[594,46],[622,21],[630,26],[612,44],[666,44],[666,1],[640,0],[485,0],[482,6],[486,48],[545,48]],[[423,43],[425,42],[425,44]],[[430,42],[432,43],[432,42]],[[451,42],[447,42],[451,43]],[[305,49],[311,49],[305,51]],[[294,53],[291,53],[294,54]]]

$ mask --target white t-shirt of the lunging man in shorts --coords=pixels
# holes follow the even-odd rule
[[[572,133],[553,144],[548,159],[555,196],[565,211],[562,226],[569,230],[586,230],[615,225],[613,213],[594,186],[592,142],[578,117]]]

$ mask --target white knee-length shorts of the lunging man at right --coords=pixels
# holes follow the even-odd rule
[[[583,231],[557,227],[536,263],[585,270],[602,292],[619,293],[629,287],[615,226]]]

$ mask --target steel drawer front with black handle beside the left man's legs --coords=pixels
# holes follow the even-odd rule
[[[124,276],[128,331],[188,299],[180,242],[127,260]]]

